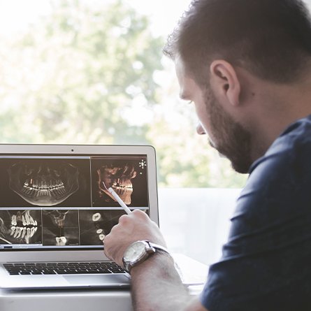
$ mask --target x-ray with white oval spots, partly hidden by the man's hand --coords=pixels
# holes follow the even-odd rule
[[[105,236],[124,213],[124,210],[80,210],[81,245],[103,245]]]

